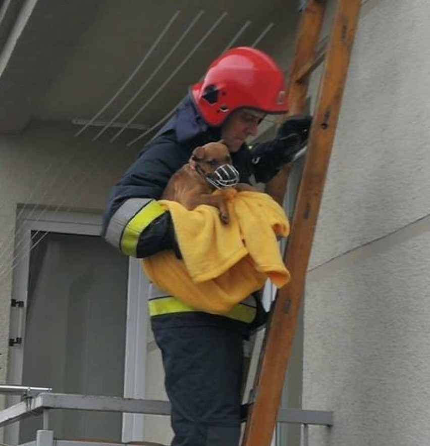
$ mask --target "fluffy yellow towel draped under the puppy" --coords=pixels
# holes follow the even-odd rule
[[[183,261],[163,251],[142,263],[150,280],[170,295],[196,310],[224,314],[267,278],[278,287],[290,280],[276,239],[288,235],[289,225],[283,209],[265,193],[214,193],[226,195],[229,224],[221,223],[212,206],[188,211],[160,201],[171,212]]]

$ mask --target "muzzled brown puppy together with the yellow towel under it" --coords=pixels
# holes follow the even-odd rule
[[[228,313],[267,278],[278,287],[290,280],[277,241],[289,233],[284,210],[269,195],[237,184],[228,148],[220,145],[197,147],[159,202],[172,215],[183,259],[162,251],[142,261],[159,288],[212,314]]]

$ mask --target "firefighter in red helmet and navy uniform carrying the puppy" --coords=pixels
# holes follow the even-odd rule
[[[265,115],[287,111],[284,74],[269,56],[250,47],[224,53],[114,186],[104,238],[127,256],[174,250],[180,258],[171,215],[157,202],[169,178],[196,146],[223,139],[240,182],[267,182],[302,151],[311,118],[287,119],[275,139],[252,148],[246,140]],[[250,296],[220,316],[193,311],[153,289],[149,314],[172,404],[172,445],[237,446],[243,341],[264,322],[260,302]]]

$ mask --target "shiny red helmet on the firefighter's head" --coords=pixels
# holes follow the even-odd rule
[[[247,46],[229,49],[212,62],[203,81],[191,86],[191,94],[213,127],[239,108],[267,114],[288,111],[284,73],[272,58]]]

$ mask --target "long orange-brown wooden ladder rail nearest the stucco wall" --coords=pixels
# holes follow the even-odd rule
[[[339,0],[336,11],[284,258],[293,279],[275,302],[244,446],[268,446],[276,425],[360,6],[361,0]]]

